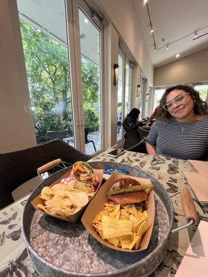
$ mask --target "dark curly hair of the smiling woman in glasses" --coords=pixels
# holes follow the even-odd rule
[[[191,98],[194,101],[193,110],[195,114],[207,114],[207,103],[200,99],[200,95],[196,89],[193,89],[191,86],[187,86],[184,84],[177,84],[173,87],[168,87],[166,91],[164,92],[160,102],[159,102],[159,109],[157,111],[157,118],[171,118],[171,114],[166,111],[163,106],[166,104],[166,97],[168,96],[171,91],[175,91],[175,89],[185,91],[189,93]]]

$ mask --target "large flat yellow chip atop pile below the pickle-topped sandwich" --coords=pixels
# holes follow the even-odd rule
[[[103,215],[101,227],[104,239],[132,235],[132,222],[130,220],[116,220],[110,216]]]

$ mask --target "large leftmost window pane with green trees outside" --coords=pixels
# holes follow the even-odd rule
[[[73,144],[64,0],[17,0],[17,5],[37,143]]]

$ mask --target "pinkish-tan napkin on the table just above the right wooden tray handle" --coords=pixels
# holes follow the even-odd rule
[[[199,202],[208,204],[208,174],[184,172]]]

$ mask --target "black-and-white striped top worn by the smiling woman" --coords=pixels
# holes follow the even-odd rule
[[[156,120],[147,136],[156,154],[177,159],[208,159],[208,117],[189,122]]]

